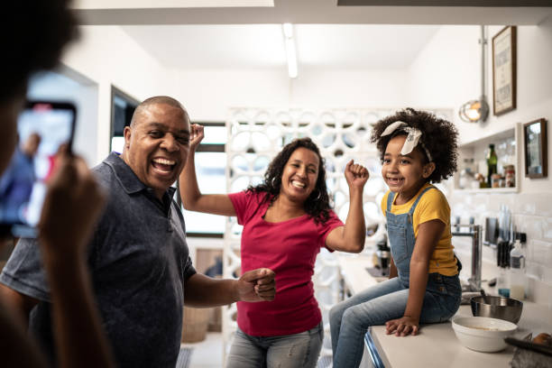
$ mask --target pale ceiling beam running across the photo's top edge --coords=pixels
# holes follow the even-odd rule
[[[372,3],[389,4],[388,1]],[[508,6],[457,6],[491,3]],[[402,0],[393,4],[408,6],[339,6],[337,0],[77,0],[73,7],[83,24],[522,25],[538,24],[546,19],[552,14],[550,3],[550,0]],[[534,4],[548,6],[528,6]]]

